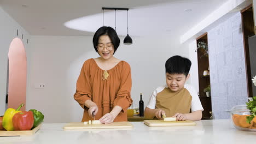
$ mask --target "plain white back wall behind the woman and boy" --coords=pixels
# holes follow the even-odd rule
[[[165,84],[167,58],[173,55],[189,57],[189,51],[187,43],[176,43],[178,39],[132,39],[132,45],[120,45],[115,57],[131,65],[131,95],[133,106],[138,107],[139,93],[143,93],[145,106],[153,90]],[[79,122],[83,109],[73,99],[73,94],[84,61],[98,57],[92,37],[32,36],[31,48],[27,106],[42,111],[46,123]],[[35,83],[45,83],[46,87],[36,89]]]

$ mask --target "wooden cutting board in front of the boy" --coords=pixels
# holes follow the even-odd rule
[[[173,121],[165,122],[164,120],[145,120],[144,124],[149,127],[168,127],[168,126],[185,126],[185,125],[196,125],[193,121]]]

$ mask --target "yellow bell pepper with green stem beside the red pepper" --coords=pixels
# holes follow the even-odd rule
[[[10,131],[10,130],[14,130],[13,127],[13,116],[15,115],[15,113],[21,112],[19,111],[20,108],[24,106],[24,104],[21,104],[17,110],[13,109],[13,108],[9,108],[4,112],[4,116],[3,116],[3,127],[4,129]]]

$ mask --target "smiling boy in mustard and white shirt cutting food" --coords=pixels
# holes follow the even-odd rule
[[[193,87],[184,85],[189,79],[191,61],[173,56],[165,63],[166,85],[152,93],[144,111],[147,118],[176,117],[176,121],[198,121],[202,118],[203,107]],[[191,113],[190,113],[191,111]]]

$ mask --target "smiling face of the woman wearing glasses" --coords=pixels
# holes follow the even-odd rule
[[[105,60],[113,57],[114,46],[108,35],[101,35],[98,38],[97,50],[98,54]]]

